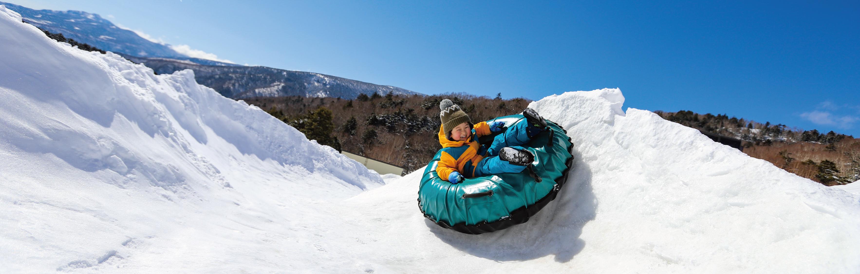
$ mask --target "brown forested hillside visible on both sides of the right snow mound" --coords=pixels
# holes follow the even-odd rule
[[[439,100],[451,98],[473,122],[520,113],[529,100],[494,99],[470,94],[362,94],[355,100],[303,96],[246,100],[267,110],[310,139],[335,149],[365,155],[407,172],[424,166],[440,149]],[[726,114],[656,111],[664,119],[743,141],[747,155],[826,186],[860,180],[860,141],[833,131],[803,131]]]

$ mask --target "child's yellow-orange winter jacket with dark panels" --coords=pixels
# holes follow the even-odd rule
[[[436,174],[439,175],[439,178],[448,180],[448,176],[454,171],[466,178],[475,177],[475,167],[487,152],[476,140],[478,137],[491,133],[487,122],[481,122],[472,127],[472,136],[468,140],[452,141],[445,136],[445,131],[440,125],[439,144],[442,145],[442,153],[439,166],[436,167]]]

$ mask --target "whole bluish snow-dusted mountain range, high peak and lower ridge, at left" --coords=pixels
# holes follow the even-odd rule
[[[169,45],[146,40],[131,30],[114,26],[101,16],[83,11],[28,9],[0,2],[22,15],[22,20],[52,33],[71,38],[109,52],[120,53],[136,63],[143,63],[157,73],[191,69],[197,81],[230,98],[254,96],[302,95],[353,99],[359,94],[418,94],[403,88],[372,84],[322,75],[313,72],[243,66],[191,58],[174,51]]]

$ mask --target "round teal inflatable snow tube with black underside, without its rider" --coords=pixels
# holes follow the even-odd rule
[[[503,121],[507,127],[526,123],[523,115],[487,121]],[[465,234],[482,234],[527,222],[556,198],[573,164],[573,143],[567,131],[549,120],[545,131],[525,145],[535,154],[531,168],[519,174],[493,174],[453,185],[436,174],[439,153],[424,169],[418,189],[418,207],[430,221]],[[481,137],[492,143],[494,136]]]

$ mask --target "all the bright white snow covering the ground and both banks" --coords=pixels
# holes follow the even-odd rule
[[[3,6],[0,45],[2,273],[860,271],[860,196],[624,111],[618,89],[532,102],[575,144],[567,185],[468,235],[421,216],[421,171],[383,181],[191,70],[77,50]]]

